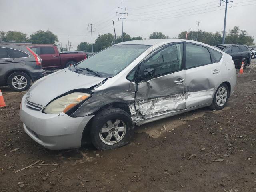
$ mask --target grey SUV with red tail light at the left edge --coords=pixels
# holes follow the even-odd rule
[[[24,91],[46,75],[41,58],[30,48],[20,45],[0,44],[0,86]]]

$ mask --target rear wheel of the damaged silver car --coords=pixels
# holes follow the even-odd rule
[[[222,93],[222,90],[224,90],[223,93]],[[222,83],[218,87],[218,89],[216,90],[216,92],[214,94],[214,98],[212,100],[212,104],[210,105],[210,108],[214,109],[214,110],[223,109],[226,106],[227,102],[228,102],[228,96],[229,96],[228,86],[227,86],[226,83]]]

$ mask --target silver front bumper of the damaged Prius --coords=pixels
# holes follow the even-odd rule
[[[64,113],[45,114],[26,105],[26,94],[20,106],[20,120],[25,132],[38,144],[52,150],[78,148],[82,133],[93,116],[73,118]]]

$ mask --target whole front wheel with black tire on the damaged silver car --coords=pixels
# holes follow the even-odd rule
[[[134,124],[130,115],[119,108],[104,109],[91,122],[91,141],[98,150],[124,146],[130,142],[133,134]]]

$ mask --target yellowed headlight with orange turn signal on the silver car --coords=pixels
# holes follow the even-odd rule
[[[68,110],[86,100],[91,95],[88,93],[70,93],[63,97],[60,97],[46,106],[44,113],[47,114],[59,114],[61,112],[66,113]]]

